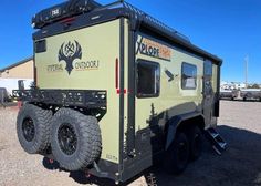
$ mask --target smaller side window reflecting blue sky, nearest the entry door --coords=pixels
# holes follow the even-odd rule
[[[197,66],[182,63],[181,87],[184,90],[195,90],[197,87]]]

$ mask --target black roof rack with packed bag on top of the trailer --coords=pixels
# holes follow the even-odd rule
[[[60,3],[58,6],[44,9],[36,13],[32,19],[32,27],[34,29],[42,29],[43,27],[60,21],[65,18],[70,18],[73,16],[86,13],[93,10],[104,10],[104,9],[114,9],[114,8],[123,8],[129,12],[136,19],[142,19],[145,22],[150,22],[163,30],[168,31],[171,34],[179,35],[184,40],[189,41],[188,37],[179,33],[177,30],[166,25],[165,23],[160,22],[159,20],[148,16],[144,11],[139,10],[138,8],[123,1],[116,1],[109,3],[107,6],[102,6],[94,0],[69,0],[66,2]]]

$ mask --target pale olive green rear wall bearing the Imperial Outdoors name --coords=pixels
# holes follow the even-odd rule
[[[45,38],[46,52],[35,53],[36,80],[46,90],[107,90],[107,108],[98,122],[102,131],[102,159],[119,163],[119,95],[115,84],[115,62],[119,60],[119,20]],[[59,61],[60,50],[81,46],[82,58]],[[63,45],[63,48],[62,48]],[[65,53],[66,54],[66,53]]]

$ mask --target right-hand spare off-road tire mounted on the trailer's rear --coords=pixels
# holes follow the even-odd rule
[[[66,145],[61,145],[61,128],[64,126],[71,128],[76,140],[72,154],[67,154],[63,148]],[[100,157],[102,151],[102,136],[97,120],[71,108],[60,108],[52,118],[51,146],[53,156],[61,167],[67,170],[86,168]]]

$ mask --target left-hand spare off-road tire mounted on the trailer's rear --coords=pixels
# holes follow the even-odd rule
[[[22,148],[29,154],[41,154],[50,145],[52,111],[43,110],[33,104],[24,104],[17,117],[17,135]],[[34,135],[28,140],[24,123],[31,121]]]

